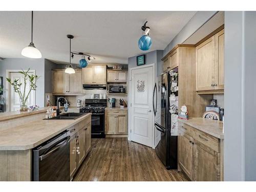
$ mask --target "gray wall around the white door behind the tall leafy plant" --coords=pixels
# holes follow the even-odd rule
[[[0,76],[3,76],[3,86],[6,86],[6,70],[35,70],[36,75],[40,76],[37,80],[36,104],[40,107],[45,103],[45,59],[30,59],[30,58],[5,58],[0,61]],[[6,100],[6,91],[3,98]]]

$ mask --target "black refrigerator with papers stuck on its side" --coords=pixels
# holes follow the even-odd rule
[[[175,69],[174,71],[178,76],[178,69]],[[155,129],[161,132],[160,141],[158,142],[155,150],[156,154],[159,157],[159,159],[162,161],[162,163],[165,165],[166,169],[177,169],[177,151],[178,151],[178,136],[173,135],[171,132],[171,113],[170,110],[170,102],[169,97],[170,94],[173,96],[175,95],[178,97],[178,91],[175,93],[172,92],[171,84],[174,80],[174,77],[172,76],[172,72],[166,72],[162,74],[161,76],[161,83],[159,82],[159,91],[161,92],[161,109],[157,109],[157,102],[154,102],[154,114],[156,115],[156,111],[160,110],[161,112],[161,123],[158,123],[155,121]],[[175,78],[175,81],[177,81],[176,86],[178,88],[178,77]],[[160,86],[161,84],[161,86]],[[155,93],[155,90],[157,90],[156,85],[154,89],[154,98],[157,97],[157,94]],[[154,100],[154,99],[153,99]],[[178,106],[177,106],[178,108]],[[176,109],[178,111],[178,109]]]

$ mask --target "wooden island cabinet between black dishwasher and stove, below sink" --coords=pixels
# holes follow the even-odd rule
[[[90,117],[91,118],[91,117]],[[86,122],[87,120],[84,120]],[[70,129],[70,178],[76,173],[91,148],[91,122],[79,123]]]

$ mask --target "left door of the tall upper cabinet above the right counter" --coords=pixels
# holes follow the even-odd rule
[[[196,47],[196,91],[214,90],[215,36]]]

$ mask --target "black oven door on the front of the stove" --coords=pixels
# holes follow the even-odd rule
[[[104,113],[92,114],[92,138],[105,136],[105,115]]]

